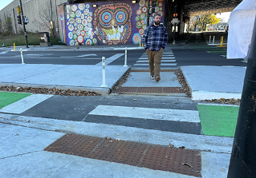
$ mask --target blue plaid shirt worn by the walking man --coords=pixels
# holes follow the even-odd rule
[[[159,26],[151,24],[144,30],[142,38],[144,49],[149,49],[151,51],[159,51],[161,48],[165,49],[167,41],[167,30],[162,23]]]

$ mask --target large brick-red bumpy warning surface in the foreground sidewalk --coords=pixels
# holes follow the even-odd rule
[[[201,153],[184,148],[66,134],[44,150],[201,177]]]

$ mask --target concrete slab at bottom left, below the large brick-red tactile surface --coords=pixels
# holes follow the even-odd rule
[[[176,177],[193,178],[173,172],[139,168],[127,164],[118,164],[104,160],[92,160],[80,156],[71,156],[56,152],[34,152],[14,156],[0,162],[0,176],[19,177],[85,177],[85,178],[147,178]]]

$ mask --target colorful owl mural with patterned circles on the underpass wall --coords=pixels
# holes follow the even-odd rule
[[[157,0],[155,8],[161,22],[164,1]],[[146,0],[135,4],[118,1],[59,6],[61,39],[67,45],[139,44],[147,28],[147,10]],[[153,22],[152,17],[149,22]]]

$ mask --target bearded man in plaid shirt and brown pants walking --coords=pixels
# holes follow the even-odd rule
[[[150,79],[160,81],[161,59],[167,45],[168,34],[161,23],[161,14],[153,16],[154,22],[144,31],[142,42],[148,55]]]

